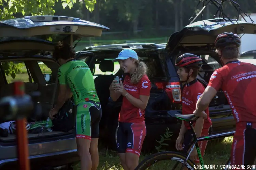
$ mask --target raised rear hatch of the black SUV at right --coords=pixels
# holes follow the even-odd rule
[[[181,31],[173,33],[168,40],[166,50],[171,53],[179,50],[179,47],[205,46],[214,48],[216,37],[223,32],[256,34],[256,25],[226,18],[194,22],[184,27]]]

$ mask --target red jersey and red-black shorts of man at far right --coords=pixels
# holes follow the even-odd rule
[[[256,66],[228,62],[214,71],[208,86],[223,90],[236,120],[231,165],[253,164],[256,157]]]

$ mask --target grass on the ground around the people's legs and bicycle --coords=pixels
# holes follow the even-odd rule
[[[232,141],[233,137],[227,137],[217,144],[216,142],[209,141],[203,157],[204,164],[214,164],[215,166],[226,164],[230,156]],[[123,170],[116,152],[103,148],[102,146],[99,146],[99,148],[100,162],[98,170]],[[149,155],[143,155],[142,153],[139,161],[142,161],[147,156]],[[169,162],[162,161],[151,169],[164,170],[169,168]],[[73,165],[73,169],[80,170],[80,163]]]

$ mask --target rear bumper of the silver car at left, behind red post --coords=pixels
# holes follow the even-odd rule
[[[1,154],[1,170],[15,169],[18,166],[16,149],[16,146],[0,147],[1,153],[6,153]],[[79,160],[75,138],[29,144],[29,155],[31,169],[59,166]]]

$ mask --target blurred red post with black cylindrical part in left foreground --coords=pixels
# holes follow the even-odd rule
[[[26,118],[31,114],[41,113],[40,104],[37,103],[40,92],[25,94],[23,82],[14,82],[13,95],[0,100],[0,117],[6,120],[16,120],[17,129],[17,156],[20,170],[30,170],[28,152],[28,137]]]

